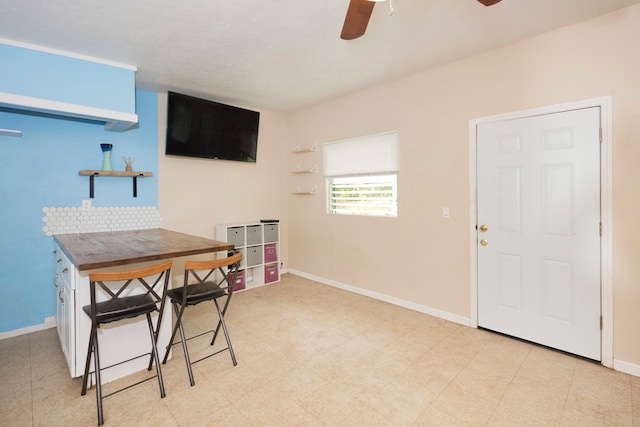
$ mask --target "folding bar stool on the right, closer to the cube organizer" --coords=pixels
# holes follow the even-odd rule
[[[176,313],[176,322],[162,363],[164,364],[167,362],[171,346],[178,344],[178,342],[174,343],[173,340],[175,339],[176,333],[180,331],[180,343],[182,343],[182,350],[184,351],[184,358],[187,364],[187,372],[189,373],[189,381],[192,386],[195,384],[195,381],[193,380],[193,371],[191,366],[197,362],[229,350],[233,366],[238,364],[236,362],[235,353],[233,352],[233,346],[231,345],[231,339],[229,338],[227,324],[224,321],[224,315],[227,312],[231,296],[233,295],[233,288],[236,282],[235,279],[238,274],[238,268],[240,267],[241,260],[242,253],[237,252],[226,258],[213,261],[186,261],[184,264],[184,286],[176,289],[169,289],[167,291],[167,297],[171,300],[171,305]],[[228,271],[225,271],[225,268]],[[216,277],[216,271],[219,273],[219,279]],[[193,279],[191,279],[191,277],[193,277]],[[189,284],[190,281],[193,281],[194,283]],[[218,299],[220,298],[226,298],[222,309],[218,303]],[[197,305],[201,302],[211,300],[213,300],[218,312],[217,326],[215,329],[186,338],[184,326],[182,325],[182,316],[185,309],[188,306]],[[191,362],[191,359],[189,358],[189,350],[187,349],[187,341],[213,332],[213,338],[211,339],[210,345],[214,345],[218,332],[220,331],[220,327],[222,327],[222,331],[224,332],[224,336],[227,340],[227,347]]]

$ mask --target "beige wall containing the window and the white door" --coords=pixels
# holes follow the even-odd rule
[[[396,219],[327,215],[321,176],[305,178],[321,191],[289,196],[290,268],[468,318],[469,120],[610,95],[613,357],[640,369],[638,40],[633,6],[292,114],[289,151],[397,129],[399,209]]]

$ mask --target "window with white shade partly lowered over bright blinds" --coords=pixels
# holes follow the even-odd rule
[[[397,141],[389,132],[322,146],[329,213],[398,216]]]

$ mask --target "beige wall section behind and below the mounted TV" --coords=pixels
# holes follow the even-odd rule
[[[167,94],[158,95],[158,180],[162,228],[214,239],[216,224],[277,218],[287,266],[287,123],[260,111],[256,163],[166,156]],[[223,240],[223,239],[221,239]],[[176,265],[172,276],[180,277]],[[175,274],[178,273],[178,274]]]

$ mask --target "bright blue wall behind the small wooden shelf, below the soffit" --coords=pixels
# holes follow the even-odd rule
[[[158,206],[157,94],[136,91],[139,127],[106,132],[102,124],[0,109],[0,332],[41,325],[55,315],[54,242],[42,231],[43,207],[81,206],[89,199],[89,177],[100,169],[100,143],[113,144],[114,170],[122,156],[135,157],[133,169],[153,172],[138,179],[96,178],[93,206]]]

